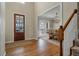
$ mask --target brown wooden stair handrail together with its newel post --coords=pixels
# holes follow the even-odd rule
[[[73,16],[77,13],[77,9],[75,9],[73,11],[73,13],[71,14],[71,16],[68,18],[67,22],[65,23],[64,26],[60,26],[60,28],[58,29],[58,35],[57,35],[57,39],[60,41],[60,56],[63,56],[63,40],[64,40],[64,31],[67,28],[68,24],[70,23],[70,21],[72,20]]]

